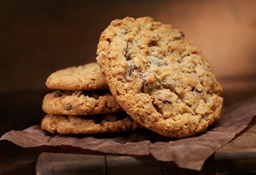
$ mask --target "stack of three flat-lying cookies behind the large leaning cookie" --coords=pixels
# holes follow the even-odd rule
[[[141,128],[110,93],[97,63],[67,67],[46,79],[41,128],[50,133],[88,134]]]

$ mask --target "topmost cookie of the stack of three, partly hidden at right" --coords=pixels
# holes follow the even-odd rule
[[[97,63],[60,69],[49,75],[46,87],[52,90],[102,90],[108,89]]]

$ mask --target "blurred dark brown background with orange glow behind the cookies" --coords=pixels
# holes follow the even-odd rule
[[[126,16],[181,29],[212,63],[224,106],[255,96],[255,8],[254,0],[0,1],[0,135],[40,124],[46,78],[95,61],[102,30]],[[34,173],[40,149],[0,143],[0,174]]]

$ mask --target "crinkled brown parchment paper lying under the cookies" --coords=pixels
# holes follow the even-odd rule
[[[141,129],[102,135],[49,135],[34,125],[23,131],[9,131],[6,139],[21,147],[69,145],[123,155],[152,155],[156,160],[173,161],[180,168],[200,170],[205,160],[243,131],[256,115],[256,96],[222,110],[220,120],[201,133],[186,139],[171,139]]]

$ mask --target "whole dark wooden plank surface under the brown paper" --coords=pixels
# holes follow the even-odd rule
[[[37,174],[255,174],[256,118],[230,143],[208,158],[200,172],[160,162],[151,156],[108,155],[90,151],[72,153],[55,147],[40,153]]]

